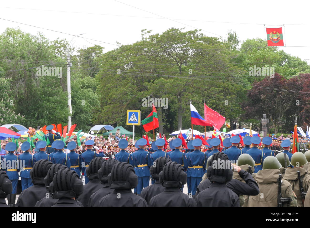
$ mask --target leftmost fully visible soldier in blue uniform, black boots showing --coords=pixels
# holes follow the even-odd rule
[[[16,150],[16,144],[14,142],[8,142],[7,145],[5,146],[5,150],[9,152],[3,157],[4,162],[6,164],[5,171],[7,172],[7,176],[12,182],[12,187],[13,187],[12,193],[7,197],[7,204],[10,207],[15,207],[18,172],[20,171],[18,156],[14,154]]]

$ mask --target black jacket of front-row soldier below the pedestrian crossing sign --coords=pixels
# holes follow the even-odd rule
[[[131,189],[114,189],[100,199],[99,207],[147,207],[146,201],[132,193]]]

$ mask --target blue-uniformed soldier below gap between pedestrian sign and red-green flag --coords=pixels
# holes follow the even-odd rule
[[[138,195],[141,194],[143,188],[149,185],[150,166],[153,164],[150,153],[144,150],[146,144],[146,139],[139,139],[135,145],[138,145],[140,149],[131,154],[135,166],[135,174],[138,176],[137,192],[134,193],[137,193]]]

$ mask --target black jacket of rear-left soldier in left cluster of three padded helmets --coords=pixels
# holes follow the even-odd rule
[[[37,178],[37,180],[32,181],[33,186],[23,190],[16,203],[16,207],[34,207],[36,203],[45,198],[48,193],[43,178]]]

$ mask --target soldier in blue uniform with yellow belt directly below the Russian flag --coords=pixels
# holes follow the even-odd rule
[[[193,167],[191,168],[191,189],[192,195],[195,197],[197,186],[202,181],[202,176],[206,171],[207,158],[206,154],[200,151],[201,139],[194,139],[192,145],[195,150],[188,154],[188,166]]]

